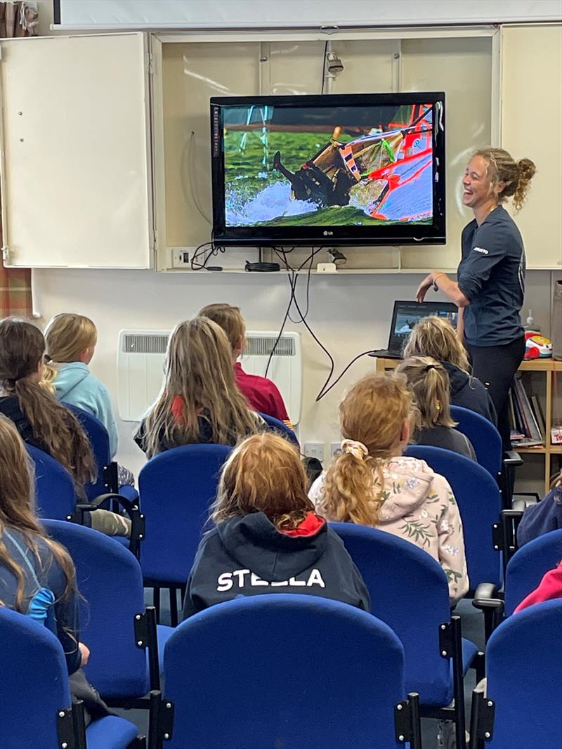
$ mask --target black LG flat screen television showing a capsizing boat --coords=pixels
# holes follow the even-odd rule
[[[444,100],[211,98],[214,243],[444,244]]]

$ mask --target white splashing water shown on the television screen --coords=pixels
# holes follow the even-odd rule
[[[307,200],[291,200],[288,182],[274,182],[243,204],[231,193],[226,199],[226,225],[252,226],[259,221],[299,216],[312,210],[318,210],[318,205]]]

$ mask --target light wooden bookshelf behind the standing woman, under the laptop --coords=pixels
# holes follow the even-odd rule
[[[399,360],[396,359],[377,359],[376,360],[376,371],[386,372],[389,369],[396,369],[399,365]],[[556,361],[554,359],[535,359],[529,362],[522,362],[519,367],[519,372],[529,372],[533,375],[534,389],[536,386],[537,392],[540,392],[541,403],[543,404],[543,410],[545,414],[546,422],[546,434],[544,446],[538,447],[517,447],[514,449],[519,452],[520,455],[525,459],[525,455],[540,455],[544,456],[544,485],[542,487],[543,494],[549,491],[550,477],[557,470],[557,456],[562,456],[562,445],[553,445],[551,443],[550,428],[554,425],[554,417],[562,416],[562,402],[558,402],[558,408],[555,406],[554,394],[558,392],[558,398],[562,396],[562,381],[558,380],[558,387],[555,383],[555,377],[562,377],[562,361]],[[534,378],[537,377],[537,382]],[[562,458],[558,458],[558,461],[562,461]],[[521,469],[519,469],[521,470]],[[538,487],[537,487],[538,488]]]

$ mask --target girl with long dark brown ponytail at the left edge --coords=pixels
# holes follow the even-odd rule
[[[67,469],[81,496],[83,485],[96,477],[94,456],[76,416],[41,384],[44,354],[45,339],[37,327],[16,318],[0,322],[0,413],[13,422],[24,442]],[[106,510],[90,517],[96,530],[130,536],[128,518]]]

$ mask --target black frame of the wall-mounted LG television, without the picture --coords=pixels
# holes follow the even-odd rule
[[[227,226],[223,107],[229,106],[434,106],[432,160],[433,223],[363,226]],[[436,107],[439,106],[438,111]],[[211,169],[213,187],[213,240],[217,246],[401,246],[444,244],[445,232],[445,94],[416,91],[399,94],[321,94],[306,96],[211,97]]]

